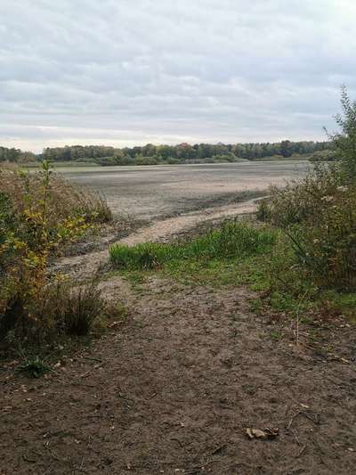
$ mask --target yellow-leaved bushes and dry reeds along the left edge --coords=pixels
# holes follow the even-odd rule
[[[93,312],[87,300],[96,299],[99,311],[97,292],[94,288],[89,294],[79,291],[74,298],[60,275],[48,276],[47,263],[59,246],[76,240],[93,220],[102,219],[98,209],[87,202],[82,208],[77,194],[69,205],[71,188],[53,180],[47,162],[38,174],[3,172],[0,184],[5,190],[0,193],[0,338],[15,332],[20,340],[41,340],[63,327],[74,328],[63,324],[69,316],[77,319],[78,329],[88,329]],[[65,312],[68,302],[71,307]]]

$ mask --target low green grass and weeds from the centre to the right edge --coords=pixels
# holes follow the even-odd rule
[[[247,285],[257,291],[251,308],[257,313],[270,309],[307,321],[331,311],[356,323],[356,294],[316,287],[298,266],[287,235],[267,226],[231,221],[186,242],[115,245],[110,261],[137,291],[154,273],[190,286]]]

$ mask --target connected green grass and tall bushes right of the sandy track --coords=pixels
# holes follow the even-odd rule
[[[264,226],[227,222],[187,242],[113,246],[127,271],[159,269],[183,283],[247,284],[267,307],[298,321],[356,319],[356,102],[342,92],[344,117],[330,147],[340,158],[303,179],[272,187],[257,217]],[[137,276],[136,276],[137,278]]]

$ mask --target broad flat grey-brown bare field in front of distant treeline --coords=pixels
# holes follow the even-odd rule
[[[262,191],[301,176],[308,161],[268,161],[209,165],[61,168],[78,184],[105,194],[115,214],[159,220],[190,210],[223,205],[237,193]]]

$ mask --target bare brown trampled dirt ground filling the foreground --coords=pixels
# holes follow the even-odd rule
[[[138,296],[109,285],[130,308],[124,327],[45,379],[4,369],[2,475],[354,472],[347,354],[272,340],[243,289],[152,280]],[[338,334],[354,347],[350,330]],[[279,436],[250,440],[247,427]]]

